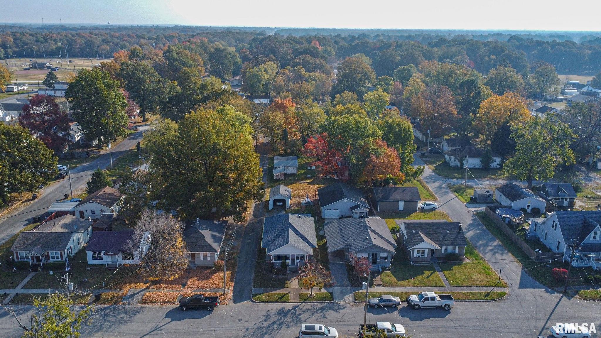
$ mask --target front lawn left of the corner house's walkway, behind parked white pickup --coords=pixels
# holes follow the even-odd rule
[[[412,265],[403,254],[395,254],[392,271],[380,274],[384,287],[442,286],[441,277],[432,265]]]

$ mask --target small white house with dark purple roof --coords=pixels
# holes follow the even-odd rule
[[[123,264],[139,264],[140,253],[148,250],[147,245],[138,250],[130,250],[133,230],[94,232],[85,248],[90,265],[105,265],[116,268]]]

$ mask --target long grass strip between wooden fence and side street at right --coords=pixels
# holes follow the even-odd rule
[[[534,262],[534,260],[530,259],[522,251],[522,249],[520,249],[513,241],[511,241],[511,239],[508,238],[507,235],[505,235],[505,233],[502,232],[501,229],[499,229],[499,227],[497,227],[484,212],[477,212],[475,214],[484,224],[486,229],[495,235],[499,242],[503,244],[505,249],[507,249],[507,251],[513,255],[514,259],[522,265],[523,271],[547,287],[556,288],[565,284],[565,281],[557,281],[551,275],[551,271],[554,268],[568,268],[568,263],[561,262],[561,257],[560,259],[554,260],[551,263]],[[572,268],[570,271],[568,284],[572,286],[580,286],[583,284],[592,285],[590,281],[587,280],[587,274],[594,275],[595,272],[593,272],[590,268]]]

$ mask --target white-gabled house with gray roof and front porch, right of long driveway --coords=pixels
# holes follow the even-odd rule
[[[273,266],[281,266],[284,260],[292,270],[305,265],[313,257],[313,249],[317,248],[313,216],[279,214],[266,217],[261,248],[266,251],[266,262]]]

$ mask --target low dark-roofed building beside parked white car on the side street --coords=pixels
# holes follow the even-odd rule
[[[377,211],[417,211],[420,200],[415,186],[378,186],[373,189]]]

